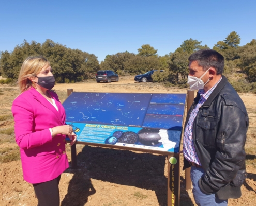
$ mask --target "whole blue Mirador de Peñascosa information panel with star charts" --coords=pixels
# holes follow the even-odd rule
[[[73,92],[63,102],[78,141],[178,152],[186,94]]]

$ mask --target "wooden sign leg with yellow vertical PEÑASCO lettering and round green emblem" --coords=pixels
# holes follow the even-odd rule
[[[170,153],[167,156],[168,183],[167,183],[167,205],[179,206],[180,196],[180,155]]]

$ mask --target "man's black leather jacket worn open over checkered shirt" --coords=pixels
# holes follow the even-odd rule
[[[198,93],[190,112],[200,99]],[[244,102],[222,76],[212,94],[200,107],[193,123],[193,143],[204,169],[199,180],[201,191],[219,199],[239,198],[247,173],[245,141],[249,118]],[[190,167],[184,158],[184,167]]]

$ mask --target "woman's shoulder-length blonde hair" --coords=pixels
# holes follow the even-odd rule
[[[31,88],[32,81],[29,77],[35,77],[39,74],[43,67],[49,67],[50,62],[43,56],[27,57],[21,66],[18,78],[20,92],[24,92]]]

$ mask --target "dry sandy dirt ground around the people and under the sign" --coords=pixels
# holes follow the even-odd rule
[[[63,102],[67,89],[78,92],[187,93],[158,83],[135,83],[133,77],[119,82],[56,84]],[[0,205],[37,205],[31,184],[22,176],[19,148],[14,141],[11,104],[17,87],[0,85]],[[255,205],[256,197],[256,95],[239,94],[250,118],[246,142],[248,177],[242,197],[228,205]],[[70,146],[66,147],[71,165]],[[59,183],[61,205],[167,205],[167,158],[152,153],[77,145],[78,168],[67,169]],[[14,161],[9,161],[13,158]],[[180,155],[183,160],[183,155]],[[182,162],[182,161],[181,161]],[[183,164],[181,163],[182,167]],[[180,169],[180,205],[195,205],[192,191],[185,190],[185,172]]]

